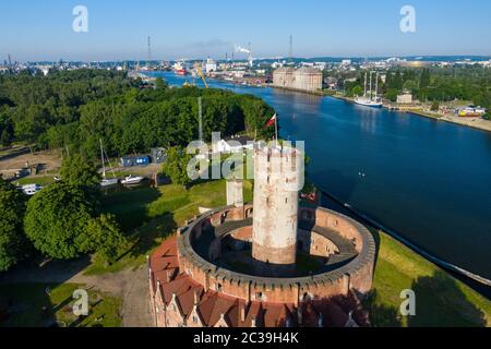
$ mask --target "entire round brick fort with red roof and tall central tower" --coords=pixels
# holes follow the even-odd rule
[[[372,236],[338,213],[299,206],[298,193],[280,183],[297,180],[297,167],[284,172],[291,164],[258,173],[275,159],[294,161],[291,152],[255,152],[256,164],[267,164],[255,166],[254,205],[235,198],[195,217],[149,257],[155,326],[368,325],[359,298],[372,285]],[[292,253],[276,258],[285,248]],[[310,258],[308,269],[297,256]]]

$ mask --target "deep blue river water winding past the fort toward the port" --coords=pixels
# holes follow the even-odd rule
[[[169,84],[190,76],[152,73]],[[195,81],[202,86],[200,81]],[[432,255],[491,279],[491,133],[332,97],[211,81],[274,107],[309,178]]]

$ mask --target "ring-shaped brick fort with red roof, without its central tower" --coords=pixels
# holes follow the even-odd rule
[[[151,309],[158,327],[278,327],[278,326],[364,326],[368,314],[359,296],[372,285],[375,243],[371,233],[355,220],[325,208],[299,210],[299,241],[311,254],[333,254],[336,244],[325,236],[350,240],[356,257],[334,270],[295,278],[254,277],[218,267],[203,258],[193,246],[202,230],[251,216],[251,207],[226,207],[204,214],[177,237],[165,241],[149,258]],[[251,229],[233,229],[217,236],[247,240]],[[326,232],[323,234],[323,232]],[[330,234],[327,234],[327,232]],[[303,234],[303,237],[302,237]],[[334,237],[334,236],[333,236]],[[304,242],[303,242],[304,243]],[[212,249],[211,249],[212,250]],[[319,254],[319,253],[318,253]]]

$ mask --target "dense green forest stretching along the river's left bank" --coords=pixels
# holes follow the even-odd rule
[[[89,158],[104,140],[110,156],[147,153],[152,147],[185,146],[203,131],[231,135],[248,131],[268,137],[274,110],[250,95],[197,87],[147,88],[124,72],[77,70],[47,76],[0,76],[0,143],[70,147]]]

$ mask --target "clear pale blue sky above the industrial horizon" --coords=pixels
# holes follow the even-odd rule
[[[0,61],[225,58],[252,43],[254,57],[491,55],[491,1],[472,0],[5,0]],[[88,33],[72,10],[88,9]],[[417,32],[399,29],[403,5]],[[243,57],[237,53],[236,57]]]

